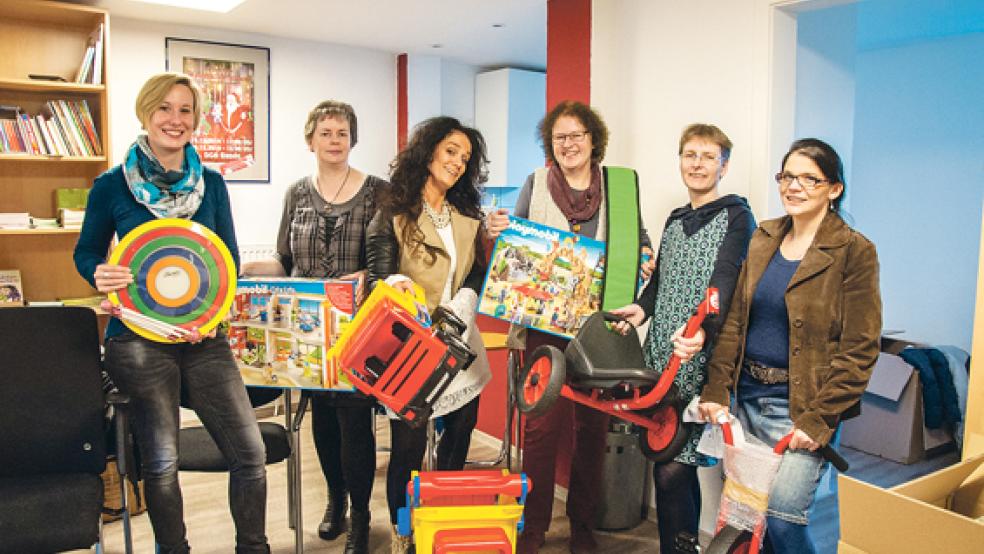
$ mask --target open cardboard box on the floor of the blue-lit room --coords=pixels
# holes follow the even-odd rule
[[[919,371],[882,352],[861,399],[861,415],[844,422],[841,444],[911,464],[953,442],[948,430],[927,429],[923,422]]]

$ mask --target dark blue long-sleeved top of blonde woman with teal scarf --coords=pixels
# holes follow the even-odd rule
[[[191,221],[200,223],[219,235],[232,254],[238,274],[239,246],[232,224],[229,191],[218,172],[207,167],[203,170],[205,195]],[[122,238],[135,227],[153,219],[153,214],[137,202],[130,192],[122,166],[116,166],[96,177],[92,190],[89,191],[79,242],[75,245],[75,267],[82,278],[93,287],[96,286],[96,266],[106,262],[113,235]],[[122,333],[124,328],[119,319],[111,318],[106,327],[106,338]]]

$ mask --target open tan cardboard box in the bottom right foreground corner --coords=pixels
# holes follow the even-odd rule
[[[891,489],[839,479],[840,554],[984,550],[984,454]]]

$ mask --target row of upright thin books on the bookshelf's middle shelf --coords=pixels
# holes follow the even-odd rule
[[[0,106],[14,117],[0,119],[0,153],[36,156],[102,156],[102,141],[85,100],[51,100],[45,114]]]

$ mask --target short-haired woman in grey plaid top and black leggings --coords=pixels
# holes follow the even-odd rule
[[[386,181],[349,165],[357,137],[358,121],[348,104],[326,100],[311,110],[304,138],[317,158],[318,173],[287,189],[276,259],[246,264],[245,274],[354,280],[361,303],[366,227]],[[372,411],[370,400],[346,393],[314,394],[311,402],[314,445],[328,482],[328,507],[318,535],[333,540],[345,530],[351,498],[346,553],[369,551],[369,497],[376,469]]]

